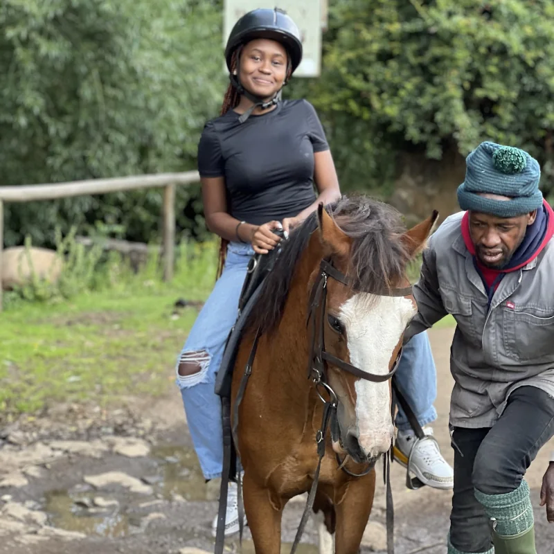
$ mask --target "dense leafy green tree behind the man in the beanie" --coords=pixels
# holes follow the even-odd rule
[[[293,87],[348,185],[379,186],[400,150],[440,159],[491,140],[528,149],[553,186],[552,0],[341,0],[329,23],[321,78]]]

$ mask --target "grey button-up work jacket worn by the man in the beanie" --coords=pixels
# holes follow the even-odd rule
[[[535,260],[504,276],[488,310],[462,217],[448,217],[429,239],[413,287],[418,314],[404,342],[452,314],[450,423],[492,427],[519,386],[542,388],[554,402],[554,238]]]

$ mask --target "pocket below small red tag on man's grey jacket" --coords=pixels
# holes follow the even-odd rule
[[[508,308],[502,314],[503,343],[506,356],[517,361],[553,357],[554,313],[516,312]]]

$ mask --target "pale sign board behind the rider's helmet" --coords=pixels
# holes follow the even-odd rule
[[[319,77],[321,73],[321,28],[326,23],[326,0],[224,0],[223,44],[234,24],[256,8],[280,8],[300,29],[303,58],[295,77]],[[225,71],[227,71],[225,69]]]

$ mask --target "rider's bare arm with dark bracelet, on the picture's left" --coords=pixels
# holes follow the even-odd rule
[[[202,177],[202,201],[204,202],[204,218],[208,229],[220,237],[230,241],[251,242],[256,252],[267,253],[274,249],[279,238],[271,229],[280,226],[277,221],[263,225],[240,224],[227,213],[224,177]]]

